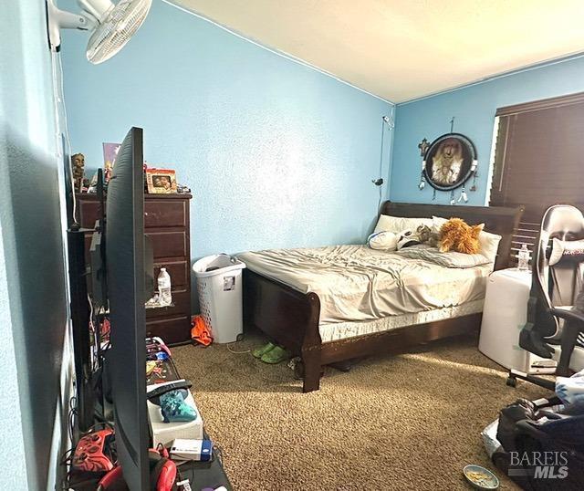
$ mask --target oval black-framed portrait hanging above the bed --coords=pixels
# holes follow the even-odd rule
[[[423,176],[440,191],[462,186],[476,169],[474,143],[460,133],[439,136],[424,155]]]

